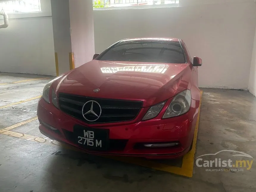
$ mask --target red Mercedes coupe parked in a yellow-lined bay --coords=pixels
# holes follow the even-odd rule
[[[39,130],[91,154],[183,156],[196,126],[201,65],[181,39],[118,41],[46,84]]]

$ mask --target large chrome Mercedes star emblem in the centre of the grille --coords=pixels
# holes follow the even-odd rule
[[[82,108],[82,115],[85,118],[85,120],[93,122],[97,121],[101,115],[101,106],[96,101],[88,101],[83,105]]]

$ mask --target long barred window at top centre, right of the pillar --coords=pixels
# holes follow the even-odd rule
[[[93,8],[178,4],[179,0],[93,0]]]

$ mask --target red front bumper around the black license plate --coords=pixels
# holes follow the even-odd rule
[[[166,103],[166,108],[168,103]],[[42,98],[38,102],[39,130],[47,137],[79,147],[74,142],[73,128],[79,124],[84,127],[109,129],[110,149],[107,152],[89,151],[91,154],[136,156],[150,159],[177,158],[186,154],[193,140],[199,101],[192,99],[191,109],[179,117],[161,119],[162,112],[154,119],[140,121],[148,109],[141,110],[134,121],[89,125],[58,110]],[[49,126],[57,130],[52,130]],[[171,147],[149,148],[144,143],[178,142]]]

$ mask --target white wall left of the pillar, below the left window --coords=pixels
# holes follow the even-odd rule
[[[9,14],[9,26],[0,29],[1,72],[56,74],[50,0],[41,0],[41,9]]]

